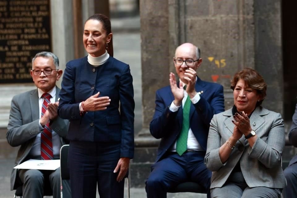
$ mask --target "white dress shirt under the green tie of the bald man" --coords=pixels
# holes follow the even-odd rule
[[[197,80],[197,77],[196,77],[196,80]],[[183,83],[183,81],[182,81],[182,83]],[[183,83],[183,87],[184,86],[185,86],[185,83]],[[188,93],[186,92],[186,90],[184,90],[184,97],[183,97],[182,105],[185,104],[187,97],[188,97]],[[192,101],[193,104],[196,104],[200,100],[200,95],[197,93],[192,99],[190,98],[190,100]],[[169,110],[172,112],[178,111],[179,108],[180,108],[180,106],[175,106],[173,101],[172,101],[171,105],[169,106]],[[196,137],[194,136],[191,127],[189,128],[188,139],[187,139],[187,150],[190,150],[190,149],[197,150],[197,151],[204,151],[204,149],[201,147],[201,145],[197,141]],[[176,151],[176,141],[172,145],[170,151],[173,151],[173,152]]]

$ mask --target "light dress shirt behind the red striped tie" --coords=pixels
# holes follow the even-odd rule
[[[37,88],[38,90],[38,103],[39,103],[39,118],[41,118],[41,109],[42,109],[42,103],[43,103],[43,98],[41,97],[42,94],[44,93],[43,91],[41,91],[39,88]],[[55,102],[55,99],[56,99],[56,86],[50,90],[48,92],[52,97],[50,98],[50,102],[51,103],[54,103]],[[40,124],[40,119],[39,119],[39,129],[40,130],[43,130],[43,127],[41,126]],[[53,142],[53,154],[54,156],[59,156],[60,155],[60,149],[61,149],[61,141],[60,141],[60,136],[54,131],[52,130],[52,142]],[[36,139],[32,145],[32,148],[30,150],[30,153],[29,153],[29,156],[40,156],[41,155],[41,148],[40,148],[40,145],[41,145],[41,133],[39,133],[37,136],[36,136]]]

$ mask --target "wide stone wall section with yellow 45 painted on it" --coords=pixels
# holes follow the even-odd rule
[[[231,78],[243,67],[255,67],[253,1],[186,2],[184,40],[201,49],[203,60],[197,74],[223,85],[229,109],[234,104]]]

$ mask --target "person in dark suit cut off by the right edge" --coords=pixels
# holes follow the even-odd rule
[[[297,148],[297,104],[292,117],[292,126],[289,133],[291,144]],[[289,166],[284,170],[287,187],[284,188],[285,198],[297,197],[297,155],[291,159]]]

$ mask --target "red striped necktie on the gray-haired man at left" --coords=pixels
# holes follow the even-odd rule
[[[42,94],[44,98],[41,108],[41,117],[45,114],[47,110],[47,105],[50,103],[51,95],[48,93]],[[47,123],[44,127],[44,130],[41,132],[41,159],[43,160],[52,160],[54,158],[53,154],[53,142],[52,142],[52,129]]]

